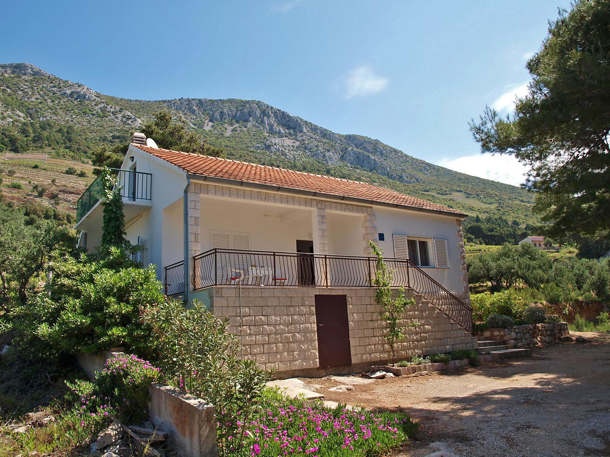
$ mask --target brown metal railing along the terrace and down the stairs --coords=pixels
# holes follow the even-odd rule
[[[289,287],[374,287],[376,258],[264,250],[211,249],[194,258],[193,289],[243,285]],[[411,288],[468,331],[472,309],[410,260],[384,259],[393,286]],[[166,294],[184,292],[184,264],[165,268]]]

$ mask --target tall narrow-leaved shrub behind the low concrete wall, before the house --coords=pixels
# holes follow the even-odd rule
[[[187,309],[178,300],[146,307],[157,363],[174,386],[216,407],[219,454],[240,449],[239,423],[260,407],[271,373],[239,357],[239,339],[201,302]]]

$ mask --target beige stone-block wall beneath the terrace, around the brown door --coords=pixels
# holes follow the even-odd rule
[[[364,367],[392,358],[384,339],[386,322],[375,303],[375,288],[242,288],[243,327],[239,317],[239,289],[207,289],[213,313],[229,319],[229,330],[242,338],[244,355],[265,369],[298,372],[318,369],[315,295],[345,295],[348,308],[351,360]],[[412,291],[406,291],[412,295]],[[418,295],[416,305],[404,314],[406,339],[397,350],[399,360],[414,355],[476,349],[476,339]],[[417,327],[410,327],[417,321]],[[243,335],[242,335],[243,330]],[[281,376],[281,374],[279,374]]]

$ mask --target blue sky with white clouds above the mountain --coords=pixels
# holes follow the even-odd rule
[[[2,5],[0,62],[29,62],[134,99],[256,99],[339,133],[517,184],[467,122],[503,112],[568,0],[21,1]]]

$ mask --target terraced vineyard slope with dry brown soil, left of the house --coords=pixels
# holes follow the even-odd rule
[[[68,168],[84,172],[84,176],[66,174]],[[76,202],[93,182],[93,166],[90,163],[59,158],[50,151],[37,151],[25,154],[4,152],[0,154],[0,177],[5,200],[16,204],[27,200],[37,200],[76,214]],[[17,188],[14,183],[23,186]],[[38,196],[38,191],[45,191]],[[54,198],[57,194],[58,197]]]

